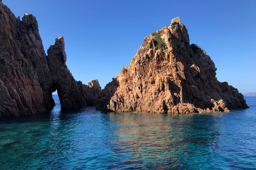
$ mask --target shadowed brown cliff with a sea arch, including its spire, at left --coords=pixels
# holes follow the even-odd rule
[[[46,56],[35,16],[20,21],[0,0],[0,117],[44,112],[53,108],[58,90],[62,108],[97,105],[98,80],[75,81],[66,65],[63,37]]]

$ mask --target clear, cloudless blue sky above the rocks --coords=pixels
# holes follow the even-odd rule
[[[64,37],[67,66],[84,84],[98,79],[103,89],[130,65],[151,32],[180,17],[190,44],[217,67],[219,81],[245,94],[256,92],[256,1],[3,0],[15,16],[36,16],[45,52]]]

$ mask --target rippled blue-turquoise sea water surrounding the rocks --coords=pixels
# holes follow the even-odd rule
[[[256,97],[230,113],[102,113],[0,119],[0,169],[256,169]]]

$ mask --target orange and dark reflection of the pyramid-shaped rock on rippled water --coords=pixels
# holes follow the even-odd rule
[[[199,165],[219,140],[219,127],[211,115],[127,113],[102,117],[108,124],[111,150],[121,164],[133,168]]]

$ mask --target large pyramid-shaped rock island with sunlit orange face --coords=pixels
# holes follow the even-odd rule
[[[182,114],[247,108],[236,88],[215,78],[216,70],[175,18],[143,40],[131,64],[102,90],[97,109]]]

